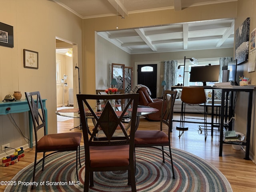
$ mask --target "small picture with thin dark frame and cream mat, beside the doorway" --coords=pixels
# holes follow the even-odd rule
[[[24,68],[38,69],[38,52],[23,49]]]

